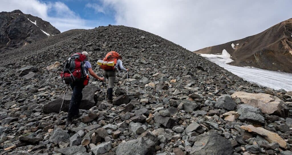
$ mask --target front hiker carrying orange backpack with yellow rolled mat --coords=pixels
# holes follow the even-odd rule
[[[122,57],[118,52],[108,52],[103,60],[98,60],[98,65],[104,70],[104,76],[108,79],[107,99],[112,103],[112,94],[114,87],[114,80],[116,79],[117,70],[129,71],[129,68],[125,69],[122,62]]]

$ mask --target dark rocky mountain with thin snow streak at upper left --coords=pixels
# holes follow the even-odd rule
[[[59,34],[49,22],[20,10],[0,13],[0,52]]]

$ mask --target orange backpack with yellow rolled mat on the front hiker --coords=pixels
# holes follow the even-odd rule
[[[111,51],[107,53],[103,60],[98,60],[97,64],[105,71],[113,71],[119,57],[120,54],[118,52]]]

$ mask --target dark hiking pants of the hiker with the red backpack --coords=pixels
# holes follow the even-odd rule
[[[67,119],[73,119],[74,116],[79,113],[79,106],[82,100],[82,89],[84,88],[83,81],[71,83],[70,87],[72,88],[73,93],[69,104]]]

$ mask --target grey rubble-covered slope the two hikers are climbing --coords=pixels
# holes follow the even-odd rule
[[[113,104],[91,77],[79,122],[66,125],[72,91],[58,114],[60,72],[81,51],[99,75],[109,51],[130,71],[117,73]],[[249,83],[146,31],[70,30],[0,56],[1,155],[291,154],[292,92]]]

